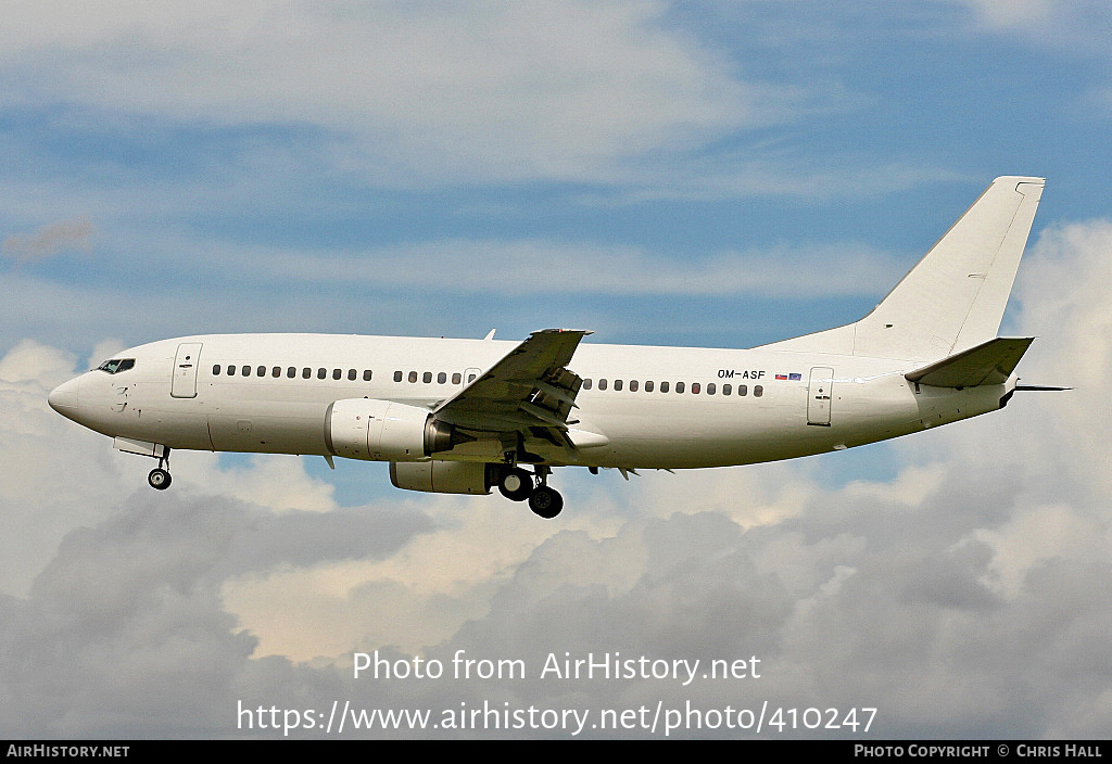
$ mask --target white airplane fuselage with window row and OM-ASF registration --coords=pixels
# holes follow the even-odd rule
[[[123,351],[118,355],[133,359],[131,369],[87,372],[59,388],[51,403],[97,432],[170,449],[330,455],[325,423],[335,401],[366,398],[431,410],[515,345],[326,334],[188,336]],[[994,411],[1015,384],[1012,378],[964,390],[915,385],[904,378],[915,365],[759,349],[584,343],[570,364],[584,379],[576,423],[569,422],[578,448],[539,443],[533,451],[553,466],[767,462]],[[436,453],[447,461],[500,458],[497,439]]]

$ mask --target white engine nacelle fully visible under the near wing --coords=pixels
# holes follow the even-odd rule
[[[467,440],[428,409],[394,401],[351,398],[335,401],[325,412],[325,445],[347,459],[424,461]]]

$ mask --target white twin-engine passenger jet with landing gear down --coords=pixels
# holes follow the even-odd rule
[[[1033,338],[996,336],[1043,183],[997,178],[856,323],[748,350],[592,344],[557,329],[520,343],[205,334],[123,351],[49,402],[158,459],[160,490],[173,449],[316,454],[387,461],[399,489],[497,486],[553,517],[554,466],[627,478],[792,459],[1052,389],[1017,384]]]

